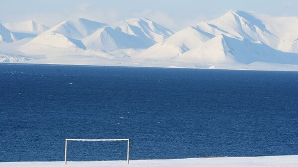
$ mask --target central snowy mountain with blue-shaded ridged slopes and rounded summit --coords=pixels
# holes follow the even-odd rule
[[[171,30],[147,18],[133,18],[101,28],[82,41],[88,49],[109,52],[128,48],[147,49],[172,34]]]

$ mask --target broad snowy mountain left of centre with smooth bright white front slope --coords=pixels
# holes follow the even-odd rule
[[[39,34],[32,41],[21,46],[18,50],[29,55],[47,55],[60,52],[60,49],[85,50],[80,39],[94,33],[106,24],[83,18],[64,21],[53,28]],[[42,49],[41,49],[42,48]],[[54,52],[54,53],[55,53]],[[63,54],[67,54],[63,52]]]

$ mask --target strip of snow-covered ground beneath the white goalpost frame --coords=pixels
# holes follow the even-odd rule
[[[298,156],[192,158],[98,162],[12,162],[0,167],[298,167]]]

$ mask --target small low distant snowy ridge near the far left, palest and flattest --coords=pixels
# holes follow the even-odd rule
[[[14,23],[4,23],[3,26],[6,27],[11,32],[31,33],[31,34],[39,34],[50,29],[46,25],[37,23],[33,20],[14,22]]]

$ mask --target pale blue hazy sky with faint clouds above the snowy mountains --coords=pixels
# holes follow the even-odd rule
[[[147,17],[178,31],[229,10],[298,16],[298,0],[0,0],[0,23],[34,20],[51,27],[75,18],[111,24]]]

